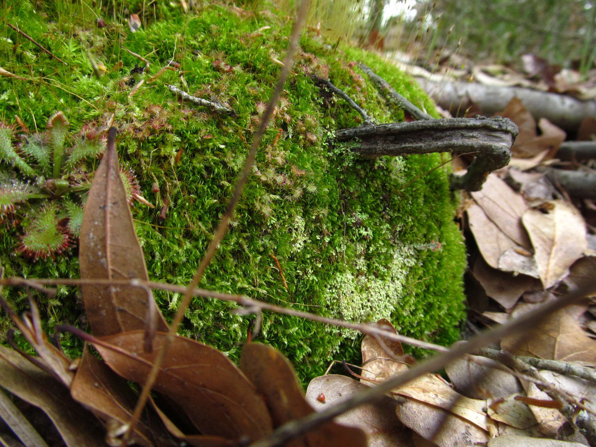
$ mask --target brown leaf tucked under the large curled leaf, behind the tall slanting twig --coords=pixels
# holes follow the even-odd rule
[[[107,426],[116,432],[131,420],[137,399],[126,380],[91,355],[86,345],[70,387],[70,395],[75,401],[92,409],[104,423],[111,420]],[[113,439],[117,443],[117,437]],[[156,440],[159,440],[160,446],[176,445],[164,432],[163,426],[155,424],[155,421],[152,424],[139,421],[131,434],[131,440],[142,446],[153,446]]]

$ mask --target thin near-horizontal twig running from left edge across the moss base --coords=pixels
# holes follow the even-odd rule
[[[95,284],[102,284],[102,285],[129,285],[131,287],[150,287],[150,288],[157,288],[160,290],[167,290],[170,292],[175,293],[186,293],[187,287],[182,285],[174,285],[174,284],[166,284],[166,283],[157,283],[154,281],[141,281],[138,279],[132,280],[92,280],[92,279],[85,279],[85,280],[73,280],[73,279],[50,279],[50,280],[27,280],[25,278],[13,277],[7,278],[5,280],[0,280],[0,285],[13,285],[13,286],[22,286],[22,285],[30,285],[33,287],[33,284],[37,283],[37,287],[39,288],[39,284],[44,285],[95,285]],[[445,346],[440,346],[440,344],[434,344],[429,342],[424,342],[423,340],[412,339],[412,337],[402,336],[399,334],[394,334],[389,332],[381,327],[379,327],[375,323],[371,324],[358,324],[352,323],[349,321],[343,321],[340,319],[334,318],[327,318],[326,316],[315,315],[314,313],[296,311],[294,309],[284,308],[282,306],[276,306],[274,304],[265,303],[263,301],[254,300],[248,298],[243,295],[234,295],[228,293],[221,293],[221,292],[214,292],[211,290],[204,290],[201,288],[194,288],[192,291],[193,296],[202,296],[206,298],[215,298],[222,301],[230,301],[237,303],[238,305],[244,306],[246,311],[242,313],[258,313],[261,310],[277,312],[277,313],[284,313],[285,315],[297,316],[299,318],[306,318],[312,321],[318,321],[325,324],[330,324],[334,326],[344,327],[348,329],[353,329],[355,331],[359,331],[362,334],[370,334],[374,335],[377,334],[385,339],[394,340],[395,342],[401,343],[408,343],[412,346],[421,347],[423,349],[430,349],[438,352],[447,352],[448,348]]]

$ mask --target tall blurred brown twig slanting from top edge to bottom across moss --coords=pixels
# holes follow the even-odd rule
[[[207,269],[207,266],[213,259],[213,256],[215,255],[215,252],[219,247],[219,243],[224,238],[226,231],[228,231],[229,221],[232,218],[234,208],[236,207],[238,200],[240,200],[240,196],[244,189],[244,184],[246,184],[250,172],[252,172],[254,157],[256,156],[257,148],[259,148],[260,141],[263,138],[263,135],[265,134],[266,126],[273,114],[275,104],[277,104],[277,101],[280,98],[281,91],[284,88],[285,80],[287,79],[288,74],[290,72],[290,66],[293,63],[294,53],[296,52],[296,48],[298,46],[300,30],[302,30],[302,26],[306,18],[308,4],[309,0],[303,0],[302,4],[300,5],[300,8],[298,10],[298,16],[296,18],[296,23],[294,23],[294,29],[292,30],[292,34],[290,36],[290,45],[287,54],[285,55],[284,66],[281,69],[280,77],[278,79],[277,85],[275,86],[275,90],[271,95],[271,99],[269,100],[269,104],[267,105],[265,113],[263,113],[263,116],[259,123],[259,128],[257,129],[257,132],[254,135],[252,145],[246,157],[246,162],[244,163],[244,169],[240,174],[240,178],[238,178],[238,181],[236,182],[234,194],[232,194],[232,197],[229,200],[228,207],[224,213],[224,216],[222,217],[221,222],[219,222],[219,226],[216,229],[215,234],[213,235],[213,238],[209,243],[209,246],[207,246],[207,250],[203,256],[203,259],[201,260],[200,265],[197,268],[197,272],[195,273],[193,280],[190,282],[190,284],[188,284],[188,287],[184,293],[184,297],[182,297],[182,301],[178,306],[176,315],[174,315],[174,319],[172,321],[172,324],[170,325],[170,330],[167,332],[167,336],[163,341],[161,349],[157,353],[153,367],[147,375],[147,380],[143,384],[141,394],[139,395],[139,399],[136,402],[135,410],[131,416],[129,429],[122,439],[123,446],[126,446],[126,441],[131,436],[132,430],[134,430],[136,426],[136,422],[138,421],[141,415],[142,409],[145,407],[145,403],[147,402],[147,398],[149,397],[151,388],[153,387],[153,384],[157,379],[157,374],[159,374],[159,370],[162,366],[163,359],[166,356],[167,350],[170,344],[172,343],[172,340],[176,336],[178,326],[182,322],[182,318],[184,318],[184,313],[188,307],[188,303],[190,303],[190,300],[193,297],[193,290],[195,287],[197,287],[198,283],[203,278],[203,274]]]

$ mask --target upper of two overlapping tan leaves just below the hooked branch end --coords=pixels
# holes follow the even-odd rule
[[[482,190],[470,194],[482,207],[486,216],[511,240],[526,249],[532,247],[522,225],[522,216],[527,210],[527,205],[520,194],[513,191],[494,173],[486,178]]]

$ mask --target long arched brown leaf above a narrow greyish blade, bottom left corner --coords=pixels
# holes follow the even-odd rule
[[[103,427],[69,390],[13,349],[0,345],[0,386],[41,408],[68,447],[105,447]]]

